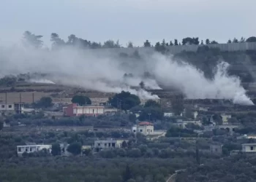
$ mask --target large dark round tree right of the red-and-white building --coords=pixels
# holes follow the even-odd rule
[[[130,92],[122,91],[121,93],[116,94],[113,98],[110,98],[109,103],[115,108],[120,107],[122,110],[127,111],[134,106],[138,106],[140,104],[140,98]]]

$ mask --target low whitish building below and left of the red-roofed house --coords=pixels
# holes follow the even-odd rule
[[[121,144],[128,140],[100,140],[100,141],[94,141],[94,151],[101,151],[102,149],[115,149],[115,148],[121,148]]]

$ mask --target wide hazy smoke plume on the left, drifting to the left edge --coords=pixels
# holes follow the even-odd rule
[[[28,47],[0,47],[1,76],[37,72],[46,74],[44,79],[31,78],[29,82],[59,83],[83,87],[100,92],[129,91],[142,99],[157,99],[139,87],[140,82],[147,89],[158,89],[157,82],[133,76],[124,79],[126,70],[118,59],[98,56],[94,51],[63,47],[60,50],[37,50]],[[129,70],[127,70],[129,71]]]

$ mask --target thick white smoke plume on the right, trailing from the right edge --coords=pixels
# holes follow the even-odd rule
[[[214,79],[206,79],[203,72],[189,65],[178,63],[166,57],[153,55],[151,66],[157,80],[166,87],[175,87],[187,98],[211,98],[233,100],[241,105],[254,105],[246,96],[246,90],[241,86],[241,81],[236,76],[227,75],[228,63],[220,62],[217,65]]]

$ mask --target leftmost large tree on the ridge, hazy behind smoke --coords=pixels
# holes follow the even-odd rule
[[[23,43],[26,46],[32,46],[35,48],[41,48],[43,41],[41,40],[42,36],[35,35],[34,33],[31,33],[30,31],[25,31],[23,33]]]

